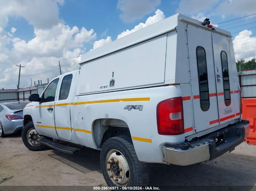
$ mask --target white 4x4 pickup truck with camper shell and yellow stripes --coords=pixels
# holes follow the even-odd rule
[[[175,14],[85,53],[79,70],[30,95],[22,140],[98,149],[108,186],[147,185],[147,163],[196,164],[244,141],[239,90],[231,33]]]

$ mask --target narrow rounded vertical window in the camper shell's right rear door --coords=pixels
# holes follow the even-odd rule
[[[222,68],[222,81],[223,81],[225,105],[229,106],[231,103],[231,97],[230,97],[230,85],[229,85],[229,75],[228,75],[228,56],[225,51],[221,51],[221,68]]]

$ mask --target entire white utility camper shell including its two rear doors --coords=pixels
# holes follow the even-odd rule
[[[175,14],[85,53],[76,95],[172,84],[183,97],[186,135],[239,119],[231,33]]]

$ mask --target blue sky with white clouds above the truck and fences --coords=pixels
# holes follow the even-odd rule
[[[15,88],[16,64],[25,66],[22,86],[29,85],[30,77],[46,82],[58,75],[58,66],[45,61],[65,59],[64,72],[76,69],[77,56],[176,13],[201,21],[207,17],[211,24],[256,13],[255,0],[0,0],[0,5],[0,88]],[[242,52],[256,49],[256,28],[246,30],[256,27],[253,22],[256,15],[218,27],[234,27],[228,29],[231,33],[244,30],[232,34],[233,39],[240,38],[233,41],[234,51]],[[255,56],[252,51],[236,54],[236,59]],[[67,59],[71,57],[77,58]]]

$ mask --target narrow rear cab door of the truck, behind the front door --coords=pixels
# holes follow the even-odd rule
[[[77,71],[62,75],[55,102],[55,128],[60,140],[75,143],[70,120],[70,105],[74,98],[74,81]]]

